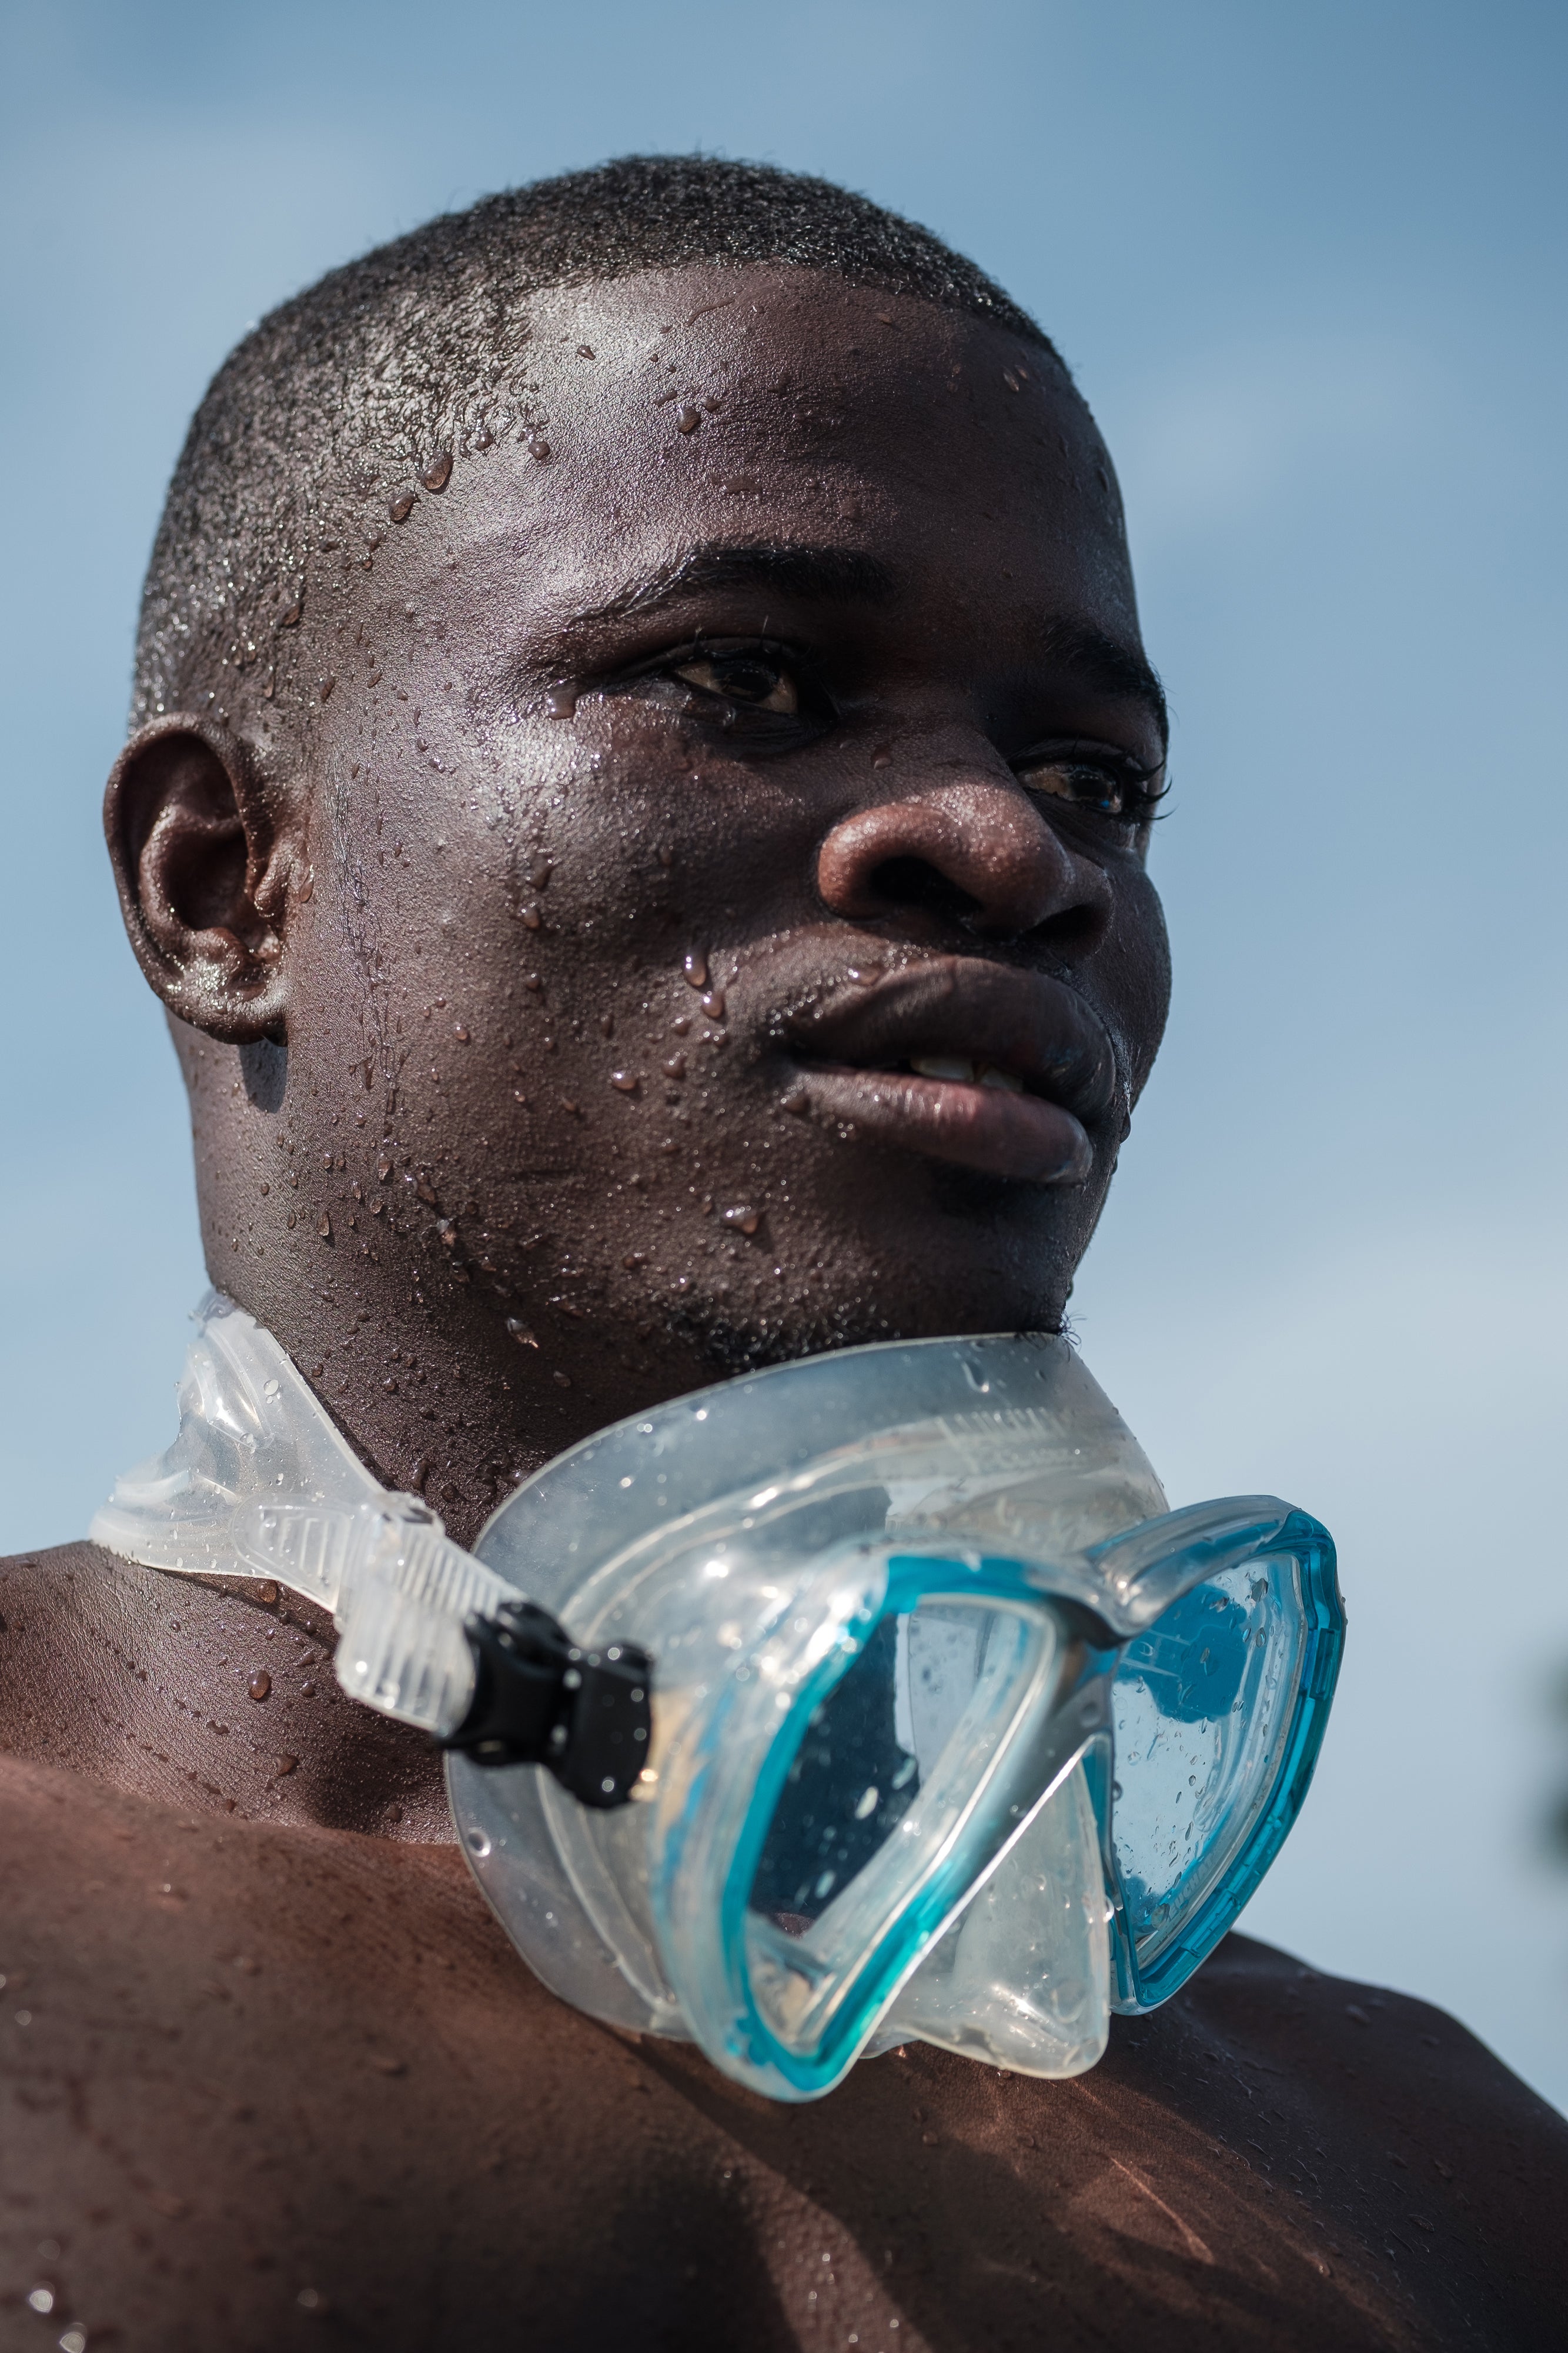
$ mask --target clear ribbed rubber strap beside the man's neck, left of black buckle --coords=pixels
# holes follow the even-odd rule
[[[343,1689],[449,1737],[475,1692],[465,1619],[517,1591],[414,1494],[364,1468],[287,1353],[212,1292],[179,1384],[179,1438],[115,1482],[89,1537],[186,1577],[275,1579],[331,1609]]]

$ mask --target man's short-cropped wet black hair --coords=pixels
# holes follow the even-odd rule
[[[148,565],[134,718],[202,687],[223,701],[226,675],[256,666],[270,692],[310,567],[367,558],[362,501],[536,426],[531,294],[691,261],[837,271],[990,320],[1063,367],[973,261],[825,179],[623,155],[487,195],[296,294],[212,379]]]

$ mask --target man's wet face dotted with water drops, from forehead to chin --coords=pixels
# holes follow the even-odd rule
[[[292,1101],[607,1412],[670,1341],[1056,1327],[1168,988],[1086,412],[788,268],[555,292],[527,381],[322,638]]]

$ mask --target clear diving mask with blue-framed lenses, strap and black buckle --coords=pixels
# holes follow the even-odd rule
[[[1328,1534],[1272,1497],[1166,1511],[1063,1339],[724,1381],[557,1457],[473,1553],[228,1301],[181,1409],[94,1539],[331,1607],[343,1687],[451,1746],[458,1838],[538,1977],[776,2099],[912,2038],[1081,2073],[1307,1793]]]

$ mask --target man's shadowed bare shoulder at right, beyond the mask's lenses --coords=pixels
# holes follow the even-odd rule
[[[1208,2153],[1232,2242],[1269,2217],[1420,2346],[1561,2341],[1568,2122],[1446,2012],[1229,1937],[1100,2080],[1171,2120],[1173,2179]]]

